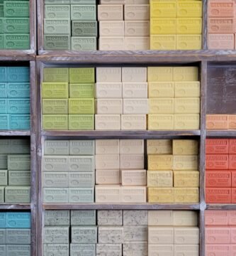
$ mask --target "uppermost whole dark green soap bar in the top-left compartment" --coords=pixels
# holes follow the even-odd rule
[[[29,1],[4,1],[5,17],[29,17],[30,2]]]

